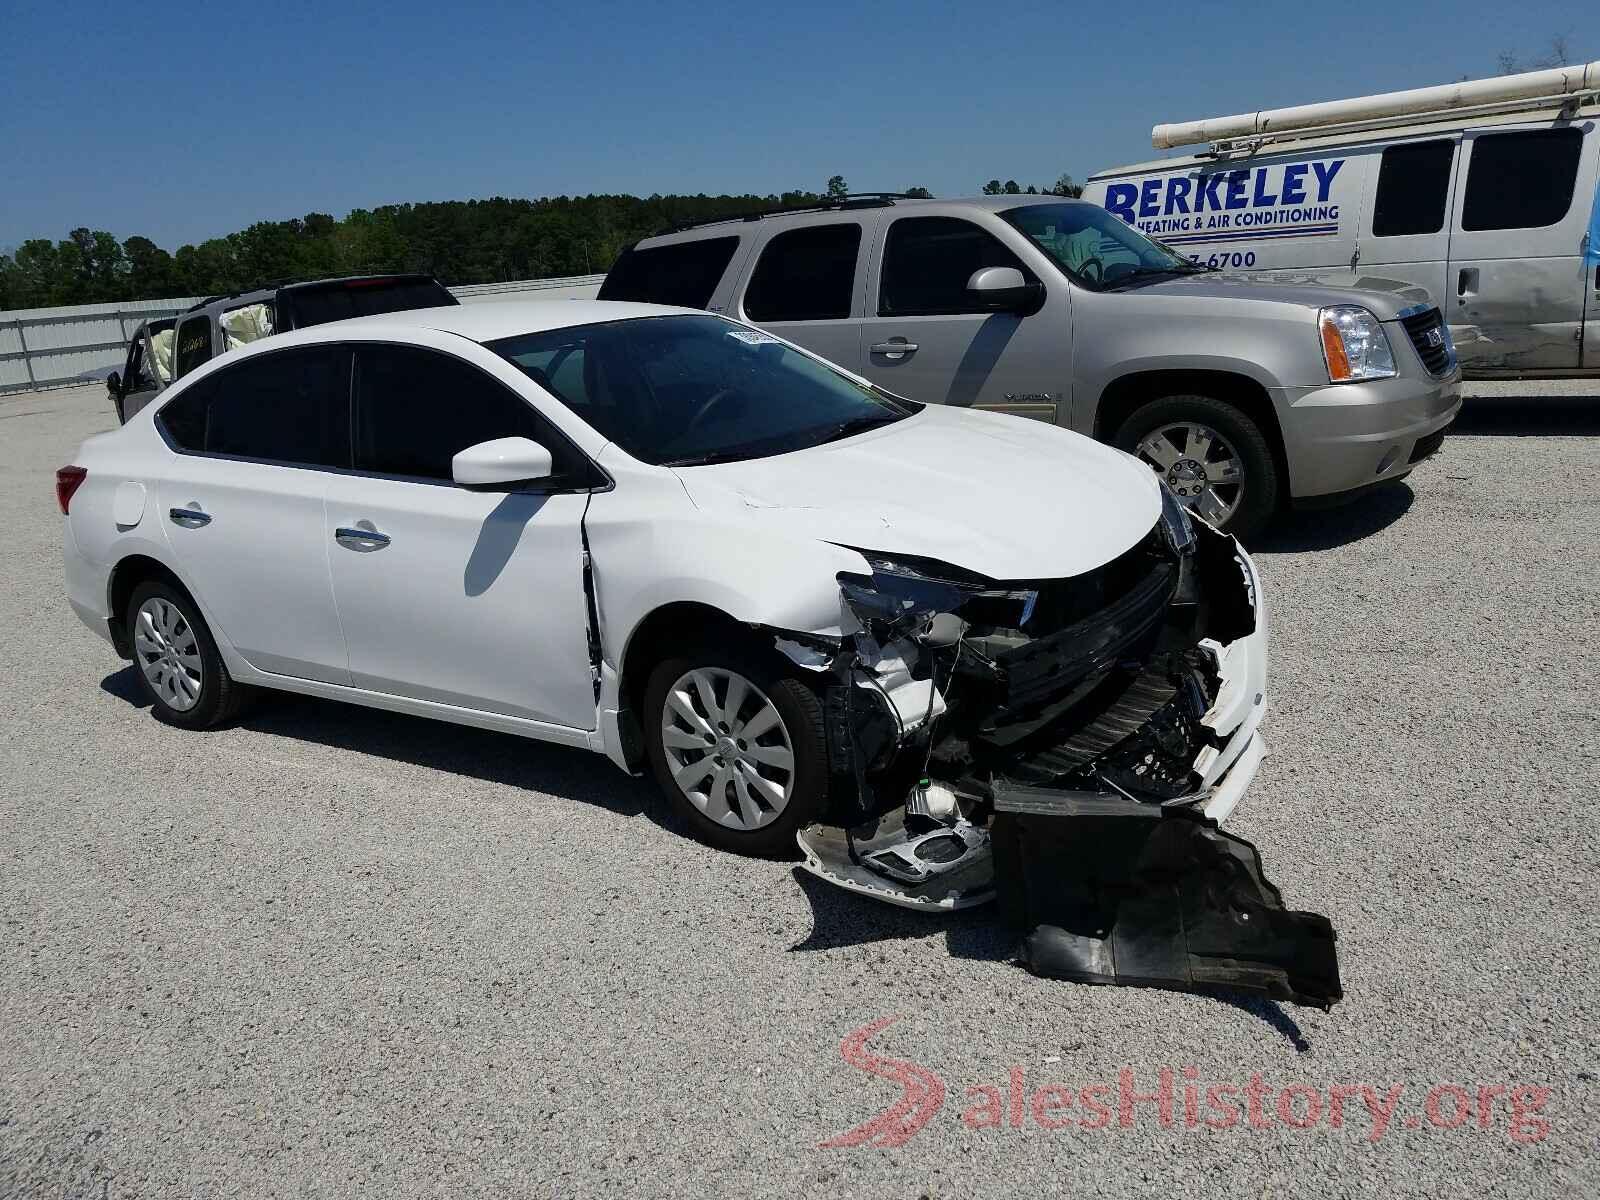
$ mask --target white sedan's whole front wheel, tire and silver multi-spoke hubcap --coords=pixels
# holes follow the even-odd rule
[[[656,781],[704,842],[794,851],[827,800],[822,706],[800,680],[722,650],[656,666],[645,688]]]

